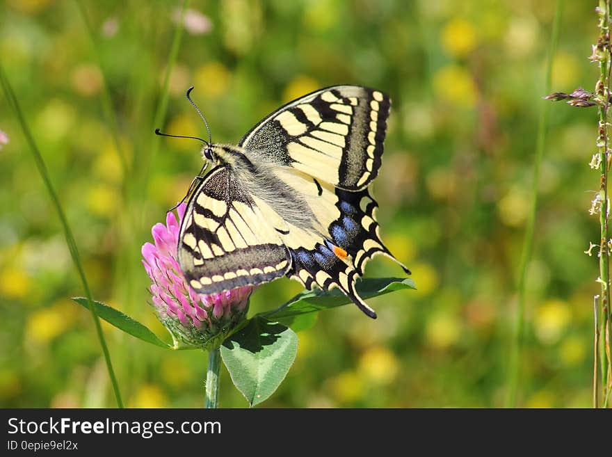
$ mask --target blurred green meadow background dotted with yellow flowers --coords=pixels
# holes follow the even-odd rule
[[[553,90],[592,90],[596,1],[566,1]],[[321,312],[263,407],[503,406],[553,0],[7,0],[0,61],[47,162],[95,299],[165,330],[147,305],[140,247],[202,164],[206,136],[236,143],[284,102],[336,83],[393,100],[373,184],[383,239],[418,291]],[[120,134],[104,113],[104,80]],[[527,282],[518,405],[587,407],[593,374],[599,176],[595,109],[551,106]],[[115,406],[84,291],[22,131],[0,98],[0,406]],[[121,159],[123,158],[123,159]],[[124,166],[124,163],[127,166]],[[368,276],[400,275],[377,258]],[[300,291],[266,284],[252,312]],[[104,324],[127,406],[201,407],[206,355],[164,351]],[[222,369],[220,406],[246,401]]]

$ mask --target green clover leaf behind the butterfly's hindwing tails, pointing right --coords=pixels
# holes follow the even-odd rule
[[[410,278],[367,278],[357,282],[355,288],[357,289],[357,294],[364,300],[396,290],[417,289],[414,286],[414,281]],[[283,323],[293,328],[293,322],[297,322],[294,320],[296,316],[327,310],[348,303],[353,302],[339,289],[332,289],[330,291],[313,289],[312,291],[301,292],[276,310],[261,312],[257,316],[275,321],[282,319]],[[300,330],[303,330],[303,321],[300,321]]]

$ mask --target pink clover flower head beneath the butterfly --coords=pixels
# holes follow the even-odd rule
[[[179,343],[208,348],[223,341],[248,310],[252,286],[239,287],[220,294],[202,295],[187,284],[179,262],[179,228],[186,205],[177,207],[179,221],[169,212],[166,225],[153,226],[154,244],[143,246],[143,264],[151,278],[153,307],[161,323]]]

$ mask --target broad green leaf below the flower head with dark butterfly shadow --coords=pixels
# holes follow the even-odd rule
[[[232,382],[250,406],[274,393],[296,359],[298,335],[261,317],[251,319],[221,346]]]

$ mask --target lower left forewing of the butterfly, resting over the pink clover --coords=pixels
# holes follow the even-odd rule
[[[193,193],[179,233],[178,260],[200,294],[268,282],[291,268],[289,250],[226,166],[211,170]]]

